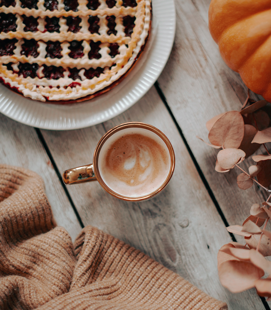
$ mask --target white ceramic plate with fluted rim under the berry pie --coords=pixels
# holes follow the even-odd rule
[[[153,27],[147,53],[116,87],[95,99],[71,105],[44,104],[0,85],[0,112],[43,129],[70,130],[93,126],[119,115],[151,88],[162,72],[175,35],[174,0],[152,0]],[[148,45],[149,44],[149,45]]]

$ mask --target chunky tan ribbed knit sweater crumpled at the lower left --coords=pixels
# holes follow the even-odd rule
[[[139,250],[56,227],[36,173],[0,165],[0,309],[222,310],[227,305]]]

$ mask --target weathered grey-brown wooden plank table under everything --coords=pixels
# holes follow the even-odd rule
[[[209,34],[209,2],[176,1],[169,61],[155,86],[128,111],[74,131],[40,130],[1,114],[0,158],[42,175],[55,219],[73,240],[83,226],[96,226],[227,302],[229,309],[270,309],[254,289],[232,294],[217,275],[217,252],[232,240],[225,226],[242,224],[249,207],[266,194],[256,186],[239,189],[238,171],[215,172],[217,151],[196,139],[207,139],[209,118],[239,109],[247,96],[246,86],[223,62]],[[132,203],[107,194],[98,182],[63,185],[63,170],[90,163],[100,137],[129,121],[158,127],[173,144],[176,169],[159,196]]]

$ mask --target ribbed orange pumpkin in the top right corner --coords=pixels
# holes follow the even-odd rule
[[[271,0],[212,0],[209,29],[225,63],[271,101]]]

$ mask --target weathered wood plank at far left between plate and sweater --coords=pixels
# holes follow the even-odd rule
[[[1,163],[22,166],[42,176],[55,220],[74,240],[81,226],[35,129],[0,114],[0,133]]]

